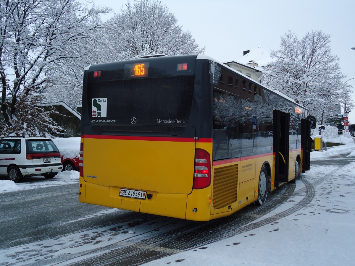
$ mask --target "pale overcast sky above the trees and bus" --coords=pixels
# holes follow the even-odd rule
[[[131,0],[133,2],[133,0]],[[354,0],[162,0],[185,31],[190,31],[206,55],[218,61],[237,60],[243,51],[263,45],[277,50],[280,36],[288,30],[302,38],[322,30],[331,35],[332,54],[341,71],[355,78]],[[100,0],[95,5],[119,12],[127,0]],[[355,88],[355,79],[349,84]],[[355,102],[353,88],[352,98]],[[349,116],[355,123],[355,108]]]

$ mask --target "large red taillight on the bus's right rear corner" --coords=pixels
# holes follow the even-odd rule
[[[207,188],[211,184],[211,160],[209,153],[202,149],[195,151],[193,189]]]

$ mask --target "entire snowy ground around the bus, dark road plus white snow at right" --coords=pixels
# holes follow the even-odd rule
[[[207,223],[79,203],[72,177],[28,180],[21,189],[0,193],[0,265],[277,263],[269,257],[291,259],[289,265],[351,264],[351,256],[325,260],[337,252],[354,253],[350,152],[320,155],[311,171],[271,193],[263,206]],[[315,249],[319,246],[324,254]],[[316,259],[306,260],[305,254]]]

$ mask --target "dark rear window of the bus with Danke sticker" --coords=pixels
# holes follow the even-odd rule
[[[194,76],[126,79],[88,84],[91,125],[186,126]]]

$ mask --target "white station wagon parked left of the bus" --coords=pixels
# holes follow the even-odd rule
[[[53,178],[63,168],[58,148],[51,139],[4,137],[0,139],[0,175],[13,182],[23,176]]]

